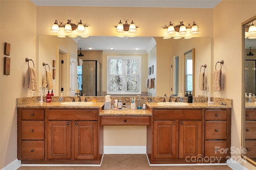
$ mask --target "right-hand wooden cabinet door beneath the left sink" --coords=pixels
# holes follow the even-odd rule
[[[74,129],[74,158],[97,159],[97,122],[76,121]]]

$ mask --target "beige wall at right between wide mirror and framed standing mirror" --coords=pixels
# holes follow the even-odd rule
[[[214,60],[224,60],[224,90],[214,92],[214,97],[233,99],[231,146],[241,146],[242,109],[242,26],[243,21],[256,15],[256,1],[224,0],[214,8]],[[232,29],[226,29],[228,27]],[[239,156],[240,154],[232,154]],[[255,169],[249,163],[242,163],[248,169]]]

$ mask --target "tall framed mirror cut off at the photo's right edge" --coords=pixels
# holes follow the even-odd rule
[[[256,166],[256,28],[250,27],[255,23],[256,16],[242,23],[242,146],[246,149],[242,156]]]

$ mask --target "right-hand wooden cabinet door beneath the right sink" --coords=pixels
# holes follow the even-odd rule
[[[202,154],[202,121],[179,121],[179,158]]]

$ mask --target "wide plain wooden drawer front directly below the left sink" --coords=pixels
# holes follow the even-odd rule
[[[97,110],[49,109],[48,120],[97,120]]]

